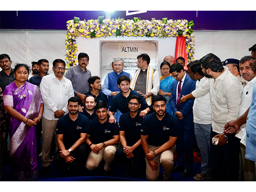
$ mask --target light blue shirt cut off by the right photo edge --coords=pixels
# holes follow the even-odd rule
[[[256,83],[253,86],[253,100],[246,121],[245,158],[256,162]]]

